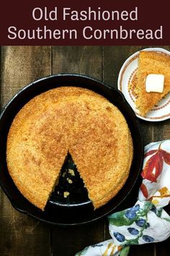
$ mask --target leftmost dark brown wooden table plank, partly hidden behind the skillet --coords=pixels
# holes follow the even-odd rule
[[[3,47],[1,104],[24,85],[50,74],[50,47]],[[0,255],[50,255],[50,226],[18,213],[1,191]]]

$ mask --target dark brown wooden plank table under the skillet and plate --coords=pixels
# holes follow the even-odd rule
[[[1,48],[1,106],[19,88],[48,74],[87,74],[117,87],[125,59],[138,46],[13,46]],[[164,47],[170,50],[169,47]],[[170,138],[170,119],[140,121],[144,144]],[[169,211],[169,207],[166,208]],[[107,218],[85,226],[48,226],[18,213],[0,189],[1,256],[73,256],[89,244],[109,239]],[[170,239],[158,244],[133,246],[130,256],[167,256]]]

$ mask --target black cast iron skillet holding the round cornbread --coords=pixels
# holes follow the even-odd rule
[[[110,200],[106,205],[102,206],[97,210],[93,210],[92,204],[88,200],[88,197],[86,197],[86,195],[83,198],[84,189],[82,191],[81,189],[76,189],[76,191],[80,191],[78,195],[76,195],[75,201],[73,201],[73,198],[69,201],[69,197],[63,199],[62,197],[59,198],[56,196],[57,192],[55,191],[56,193],[53,193],[52,197],[50,197],[50,200],[46,205],[45,211],[42,211],[36,208],[22,196],[17,187],[15,187],[14,182],[9,176],[6,167],[6,137],[8,135],[9,127],[12,124],[14,116],[17,114],[19,109],[22,108],[25,103],[30,101],[31,98],[35,97],[35,95],[60,86],[77,86],[81,88],[88,88],[94,90],[94,92],[96,93],[103,95],[120,109],[128,122],[133,137],[134,157],[128,180],[125,183],[125,186],[122,187],[120,192],[112,200]],[[60,225],[76,225],[88,223],[114,212],[115,209],[118,209],[118,206],[120,207],[120,205],[124,206],[125,199],[127,199],[128,196],[134,197],[133,187],[135,187],[134,185],[137,182],[138,174],[140,173],[140,168],[143,160],[143,143],[140,135],[138,119],[136,118],[132,108],[130,108],[129,104],[127,103],[127,101],[125,101],[124,96],[122,95],[122,93],[120,93],[119,90],[111,88],[108,85],[94,80],[91,77],[86,77],[80,74],[55,74],[32,82],[30,85],[24,87],[22,90],[19,91],[19,93],[14,95],[12,100],[7,103],[1,113],[0,141],[1,187],[6,193],[7,197],[9,197],[9,200],[12,202],[12,205],[15,209],[19,210],[22,213],[33,216],[40,221]],[[68,161],[65,165],[66,166],[63,166],[63,168],[67,169],[69,167]],[[81,183],[79,176],[76,176],[75,179],[78,179],[76,183],[79,185],[79,182]],[[63,184],[61,181],[61,185],[59,185],[58,188],[58,193],[62,193],[62,186]]]

